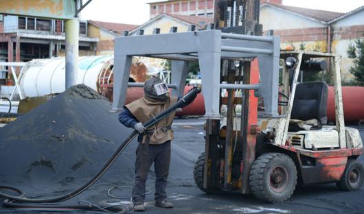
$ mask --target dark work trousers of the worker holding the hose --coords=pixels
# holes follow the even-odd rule
[[[166,186],[170,169],[170,141],[159,145],[140,143],[135,161],[133,203],[139,204],[146,198],[146,180],[152,163],[155,164],[155,202],[166,200]]]

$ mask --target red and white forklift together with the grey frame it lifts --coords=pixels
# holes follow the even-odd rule
[[[171,60],[167,85],[175,97],[183,94],[189,63],[198,62],[206,110],[205,152],[194,166],[199,189],[253,193],[267,202],[288,200],[297,185],[360,189],[364,170],[356,158],[363,143],[344,124],[340,56],[280,51],[280,36],[262,35],[259,8],[259,0],[216,0],[214,23],[205,30],[191,25],[187,32],[171,27],[167,34],[140,30],[115,38],[112,110],[122,110],[128,87],[143,86],[128,83],[133,56]],[[303,73],[325,70],[326,60],[334,126],[327,126],[327,84],[299,82]]]

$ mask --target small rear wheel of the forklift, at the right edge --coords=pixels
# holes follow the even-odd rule
[[[356,191],[363,186],[363,180],[363,165],[358,160],[348,159],[343,176],[337,182],[337,187],[341,191]]]

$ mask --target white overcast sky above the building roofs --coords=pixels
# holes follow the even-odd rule
[[[82,11],[81,19],[140,25],[149,20],[148,2],[154,1],[92,0]],[[364,0],[283,0],[283,4],[334,12],[349,12],[364,5]]]

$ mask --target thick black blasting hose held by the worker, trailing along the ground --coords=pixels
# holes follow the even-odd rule
[[[190,91],[188,91],[188,93],[186,93],[183,97],[181,97],[181,99],[179,99],[179,101],[176,104],[170,106],[170,108],[168,108],[164,112],[161,112],[161,114],[150,119],[149,121],[144,123],[143,126],[148,128],[148,127],[154,125],[155,123],[157,123],[157,121],[160,121],[164,117],[170,115],[170,113],[172,113],[177,108],[181,108],[181,106],[190,104],[193,101],[193,99],[196,97],[196,95],[200,92],[201,92],[200,88],[192,88]],[[0,192],[0,198],[5,198],[5,199],[16,201],[16,202],[26,202],[26,203],[52,203],[52,202],[62,202],[65,200],[69,200],[69,199],[75,197],[76,195],[79,195],[80,193],[85,191],[87,188],[89,188],[91,185],[93,185],[93,183],[95,183],[107,171],[107,169],[109,169],[109,167],[111,167],[111,165],[115,162],[117,157],[124,151],[125,147],[135,138],[135,136],[137,136],[137,134],[138,134],[137,130],[133,130],[133,132],[131,132],[131,134],[129,134],[126,137],[126,139],[122,142],[122,144],[119,147],[117,147],[117,150],[114,152],[113,156],[111,156],[111,158],[109,158],[109,160],[107,160],[107,162],[102,167],[102,169],[100,169],[100,171],[98,171],[98,173],[95,174],[95,176],[93,176],[84,185],[82,185],[81,187],[78,187],[77,189],[71,191],[70,193],[67,193],[64,195],[59,195],[59,196],[56,196],[53,198],[40,198],[40,199],[37,198],[36,199],[36,198],[25,198],[23,195],[16,196],[16,195],[9,195],[9,194]],[[3,186],[0,186],[0,189],[11,189],[14,191],[16,188],[3,185]],[[19,190],[19,189],[16,189],[15,191],[17,191],[17,190]],[[13,202],[7,201],[7,203],[4,202],[4,205],[10,206],[10,204],[12,204],[12,203]],[[26,206],[26,204],[24,204],[24,205]],[[29,207],[29,206],[27,206],[27,207]],[[40,206],[38,206],[38,207],[40,207]],[[58,207],[60,207],[60,206],[58,206]]]

